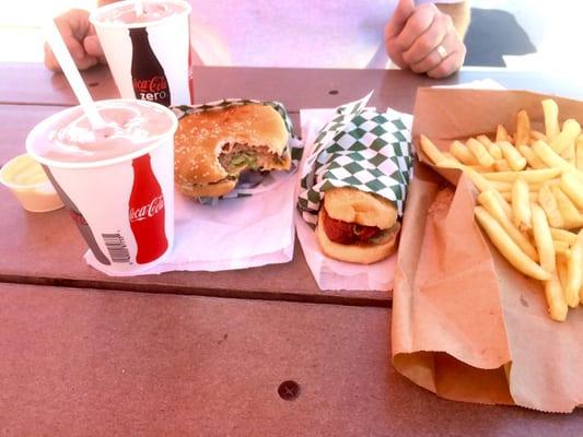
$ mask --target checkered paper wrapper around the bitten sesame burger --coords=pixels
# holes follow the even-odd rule
[[[288,175],[295,173],[298,169],[298,165],[303,152],[302,143],[293,131],[293,125],[290,119],[290,116],[288,115],[288,111],[285,110],[285,107],[279,102],[261,102],[248,98],[225,98],[222,101],[209,102],[201,105],[175,106],[172,108],[172,110],[174,111],[174,114],[176,114],[176,117],[180,119],[189,114],[203,113],[208,110],[221,110],[231,106],[247,105],[250,103],[271,106],[279,113],[279,115],[283,119],[285,129],[290,133],[290,141],[288,143],[288,147],[290,147],[292,157],[291,168],[288,172],[245,172],[243,175],[241,175],[237,186],[234,190],[220,198],[198,198],[198,201],[202,204],[217,204],[220,199],[242,198],[260,194],[265,191],[270,191],[277,185],[285,180]]]

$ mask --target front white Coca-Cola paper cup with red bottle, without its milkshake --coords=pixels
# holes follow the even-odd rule
[[[51,132],[67,126],[77,106],[37,125],[26,150],[45,169],[95,259],[110,274],[131,274],[164,260],[174,243],[175,115],[167,108],[136,99],[97,102],[152,106],[168,117],[171,128],[140,150],[94,162],[47,158],[40,147]]]

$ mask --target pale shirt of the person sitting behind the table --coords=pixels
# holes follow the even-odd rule
[[[385,68],[384,27],[398,0],[189,0],[202,63]],[[453,3],[459,0],[418,0]]]

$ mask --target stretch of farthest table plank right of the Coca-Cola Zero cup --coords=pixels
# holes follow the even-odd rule
[[[361,98],[374,90],[372,106],[390,106],[411,113],[419,86],[453,85],[493,79],[511,90],[530,90],[583,99],[579,76],[557,78],[537,72],[462,71],[434,80],[400,70],[257,69],[203,67],[195,69],[198,102],[242,96],[279,99],[293,111],[336,107]]]

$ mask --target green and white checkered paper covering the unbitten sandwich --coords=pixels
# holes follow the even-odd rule
[[[412,177],[411,117],[366,108],[365,97],[337,108],[303,167],[298,209],[311,225],[333,187],[352,187],[393,201],[403,215]]]

